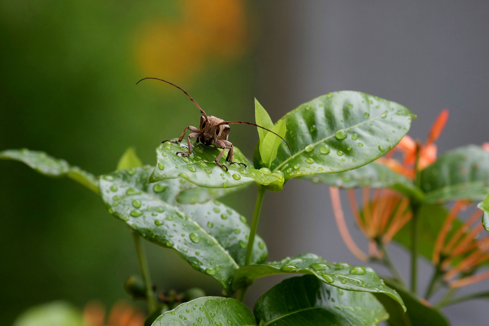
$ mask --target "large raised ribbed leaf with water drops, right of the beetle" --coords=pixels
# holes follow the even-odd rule
[[[290,150],[282,143],[271,165],[271,170],[285,173],[286,181],[370,163],[399,143],[412,119],[400,104],[355,91],[320,96],[281,120],[286,118]],[[258,154],[255,148],[255,166],[260,166]]]

